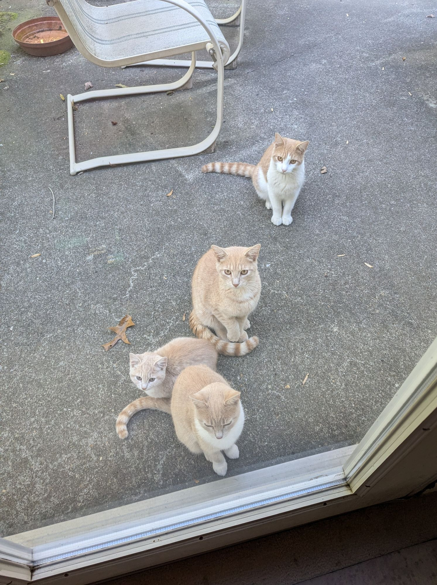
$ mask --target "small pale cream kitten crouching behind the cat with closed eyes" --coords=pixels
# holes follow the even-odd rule
[[[129,376],[135,386],[149,396],[170,398],[176,378],[185,367],[206,364],[215,370],[217,357],[217,349],[209,340],[179,337],[156,352],[129,353]],[[115,428],[121,439],[128,436],[129,419],[135,412],[149,408],[148,404],[144,398],[138,398],[120,412]]]

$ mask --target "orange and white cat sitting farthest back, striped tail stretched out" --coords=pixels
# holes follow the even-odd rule
[[[283,138],[277,132],[257,165],[247,163],[208,163],[203,173],[225,173],[251,177],[258,197],[272,209],[272,223],[290,225],[292,209],[305,180],[305,151],[308,140]],[[282,207],[284,206],[284,207]]]

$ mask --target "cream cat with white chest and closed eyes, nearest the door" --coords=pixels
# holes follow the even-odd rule
[[[214,472],[226,475],[227,462],[240,455],[235,443],[243,431],[240,393],[207,366],[189,366],[177,377],[172,398],[145,396],[142,408],[172,415],[176,436],[192,453],[203,453]],[[125,436],[119,435],[121,438]]]

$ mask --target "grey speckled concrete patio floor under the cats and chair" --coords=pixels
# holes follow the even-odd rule
[[[0,536],[218,479],[166,414],[136,415],[125,442],[115,433],[139,395],[129,350],[191,335],[190,278],[211,243],[262,245],[251,318],[260,346],[219,360],[247,415],[228,474],[359,441],[437,332],[433,2],[249,0],[216,154],[76,177],[59,94],[181,73],[103,69],[76,49],[27,56],[12,25],[54,11],[43,0],[9,6],[0,3],[18,12],[0,36],[13,54],[0,67]],[[79,105],[77,159],[199,140],[215,88],[212,71],[196,71],[189,91]],[[212,160],[256,163],[275,131],[310,140],[294,221],[279,228],[250,181],[200,173]],[[127,313],[132,345],[105,353],[107,328]]]

